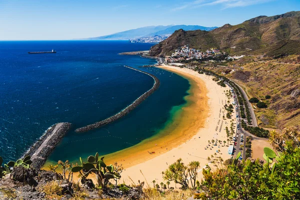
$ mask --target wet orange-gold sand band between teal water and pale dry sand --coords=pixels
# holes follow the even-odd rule
[[[179,75],[182,76],[182,74]],[[165,123],[165,126],[152,137],[134,146],[105,155],[106,163],[116,161],[121,163],[124,168],[142,163],[180,146],[196,134],[199,128],[203,127],[209,111],[206,87],[201,80],[187,79],[190,88],[188,95],[184,97],[186,103],[173,107],[172,117]],[[192,116],[194,112],[198,114]],[[155,153],[151,154],[151,152]]]

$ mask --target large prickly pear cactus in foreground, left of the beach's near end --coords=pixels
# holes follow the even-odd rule
[[[94,173],[97,177],[97,183],[99,186],[103,187],[108,183],[109,179],[119,179],[121,176],[112,164],[106,165],[103,161],[103,157],[99,159],[99,154],[96,153],[94,156],[90,155],[87,157],[87,162],[83,162],[81,157],[81,165],[74,166],[71,168],[72,172],[79,172],[82,179],[86,179],[91,173]]]

